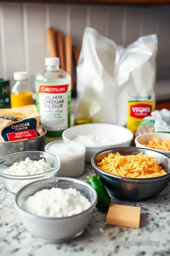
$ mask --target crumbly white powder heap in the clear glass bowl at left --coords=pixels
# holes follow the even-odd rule
[[[8,169],[4,170],[4,174],[17,175],[17,176],[27,176],[42,174],[48,172],[52,169],[50,164],[47,164],[44,159],[39,161],[30,160],[29,157],[25,161],[20,161],[19,163],[14,163]]]

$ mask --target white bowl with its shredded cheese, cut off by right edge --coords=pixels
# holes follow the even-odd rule
[[[144,133],[135,138],[135,144],[170,156],[170,133]]]

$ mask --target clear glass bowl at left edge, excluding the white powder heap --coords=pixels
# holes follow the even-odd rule
[[[4,170],[8,169],[14,163],[24,161],[27,157],[31,160],[44,159],[46,163],[50,164],[52,169],[42,174],[28,175],[28,176],[16,176],[4,174]],[[16,195],[17,192],[26,184],[41,180],[44,178],[52,178],[59,171],[60,159],[59,157],[42,151],[25,151],[11,155],[7,155],[0,159],[0,178],[8,189],[9,192]]]

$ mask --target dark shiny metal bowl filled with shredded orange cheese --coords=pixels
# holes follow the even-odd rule
[[[152,149],[122,147],[92,157],[95,174],[108,192],[127,201],[144,201],[170,182],[170,158]]]

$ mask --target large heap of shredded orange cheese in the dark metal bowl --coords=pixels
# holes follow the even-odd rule
[[[161,168],[161,162],[156,162],[154,156],[120,155],[110,153],[97,163],[102,171],[122,177],[130,178],[153,178],[166,174]]]

